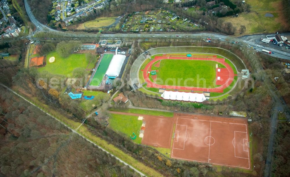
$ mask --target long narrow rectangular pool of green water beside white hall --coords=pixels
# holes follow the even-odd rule
[[[97,68],[97,71],[93,77],[92,82],[90,83],[91,86],[99,86],[101,84],[101,81],[104,78],[104,75],[106,74],[106,71],[109,67],[109,64],[113,58],[114,54],[104,54],[99,67]]]

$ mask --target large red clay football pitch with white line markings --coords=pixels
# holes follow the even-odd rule
[[[247,122],[178,116],[171,157],[250,169]]]

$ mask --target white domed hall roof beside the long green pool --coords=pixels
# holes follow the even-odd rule
[[[114,55],[107,69],[106,75],[118,77],[125,61],[125,55]]]

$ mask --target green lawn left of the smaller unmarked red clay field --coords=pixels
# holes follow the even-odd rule
[[[109,119],[109,127],[118,133],[124,134],[125,137],[130,138],[130,135],[132,136],[134,132],[137,138],[132,141],[137,144],[140,144],[142,141],[142,138],[139,138],[139,134],[137,133],[141,125],[142,120],[138,120],[138,116],[111,114]]]

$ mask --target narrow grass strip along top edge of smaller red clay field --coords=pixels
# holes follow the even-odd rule
[[[164,116],[164,117],[173,117],[173,112],[163,112],[155,110],[144,110],[144,109],[118,109],[110,108],[110,111],[118,111],[124,113],[134,113],[134,114],[143,114],[143,115],[154,115],[154,116]]]

